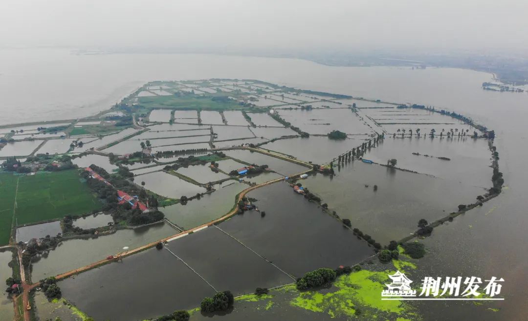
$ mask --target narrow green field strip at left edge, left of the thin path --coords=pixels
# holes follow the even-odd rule
[[[0,245],[6,245],[11,235],[17,180],[11,173],[0,174]]]

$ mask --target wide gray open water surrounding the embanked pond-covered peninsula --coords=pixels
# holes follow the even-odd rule
[[[506,300],[501,312],[478,319],[513,320],[526,316],[522,313],[528,298],[528,256],[523,254],[522,246],[528,242],[528,94],[482,90],[480,85],[491,80],[491,74],[460,69],[333,67],[262,57],[0,50],[0,125],[89,116],[107,109],[147,81],[212,77],[259,79],[301,89],[434,105],[472,116],[494,129],[506,188],[482,210],[455,219],[455,224],[445,227],[445,231],[441,231],[444,227],[435,231],[428,242],[435,242],[434,246],[441,249],[443,244],[444,253],[454,253],[456,248],[456,255],[437,254],[442,260],[436,261],[431,273],[445,273],[446,268],[442,267],[447,266],[447,272],[455,275],[502,277]],[[454,232],[447,232],[457,225]],[[472,227],[470,232],[467,226]],[[446,237],[444,241],[449,240],[442,242],[442,235]],[[478,270],[466,268],[475,265]],[[444,308],[442,312],[449,315],[446,318],[454,319],[458,306],[450,306],[457,308]],[[466,312],[465,308],[460,309],[460,313]]]

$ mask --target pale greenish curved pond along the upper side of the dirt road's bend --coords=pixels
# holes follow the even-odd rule
[[[163,208],[165,217],[184,229],[200,226],[227,214],[235,206],[235,196],[249,186],[227,181],[214,186],[215,191],[186,205],[181,203]]]

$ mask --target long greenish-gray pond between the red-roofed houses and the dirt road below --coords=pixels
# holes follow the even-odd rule
[[[58,247],[35,257],[32,263],[31,279],[38,281],[67,271],[86,266],[124,251],[160,240],[178,231],[166,223],[118,230],[114,234],[93,239],[72,239],[63,241]]]

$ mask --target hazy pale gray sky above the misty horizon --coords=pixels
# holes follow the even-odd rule
[[[2,0],[0,46],[528,51],[525,0]]]

